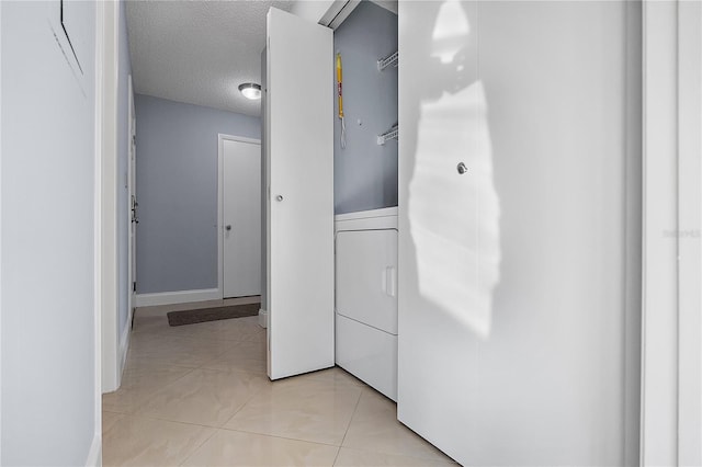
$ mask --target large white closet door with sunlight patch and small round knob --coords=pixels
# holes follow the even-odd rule
[[[399,8],[400,421],[464,465],[637,465],[637,5]]]

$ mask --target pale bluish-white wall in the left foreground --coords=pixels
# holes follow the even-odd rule
[[[0,3],[2,465],[84,465],[100,447],[95,4],[65,4],[82,77],[68,65],[58,7]]]

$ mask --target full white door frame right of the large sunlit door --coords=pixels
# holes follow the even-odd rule
[[[639,465],[699,465],[702,5],[643,7]]]

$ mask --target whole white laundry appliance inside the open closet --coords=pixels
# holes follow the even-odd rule
[[[336,362],[397,400],[397,207],[340,214]]]

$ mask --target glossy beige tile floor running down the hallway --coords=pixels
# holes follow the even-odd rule
[[[103,465],[453,464],[341,368],[270,381],[258,317],[168,326],[192,307],[137,309],[122,387],[103,396]]]

